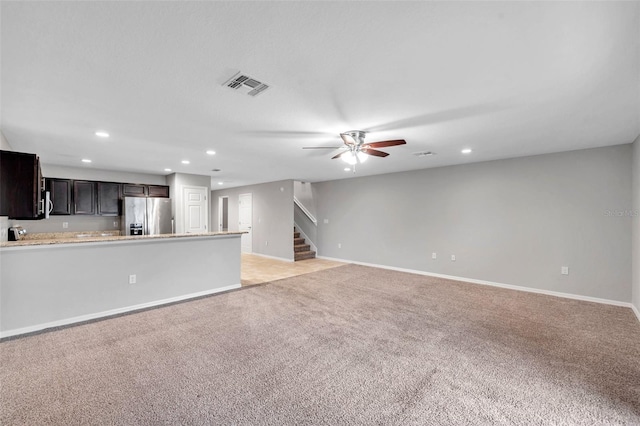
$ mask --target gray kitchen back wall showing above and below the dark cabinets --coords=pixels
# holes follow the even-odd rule
[[[90,167],[65,167],[42,164],[44,177],[61,179],[86,179],[111,182],[145,183],[149,185],[166,185],[162,175],[144,173],[116,172],[99,170]],[[120,218],[102,216],[51,216],[45,220],[11,220],[10,226],[22,225],[29,233],[39,232],[75,232],[75,231],[109,231],[120,229]],[[68,228],[63,228],[63,223]],[[114,224],[115,222],[115,224]]]

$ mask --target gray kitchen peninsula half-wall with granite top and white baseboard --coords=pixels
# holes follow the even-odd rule
[[[241,235],[0,243],[0,337],[239,288]]]

